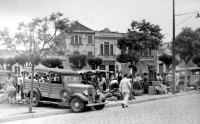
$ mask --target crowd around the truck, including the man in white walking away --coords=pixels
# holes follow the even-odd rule
[[[23,74],[22,74],[23,75]],[[133,77],[133,79],[132,79]],[[156,81],[160,81],[161,85],[156,86],[156,90],[162,93],[168,93],[167,86],[172,85],[172,74],[168,75],[157,74]],[[179,81],[179,75],[176,73],[176,85]],[[105,73],[105,74],[82,74],[82,84],[90,84],[95,87],[95,89],[100,92],[110,91],[112,89],[118,89],[123,97],[124,102],[122,107],[127,106],[127,99],[130,95],[131,88],[133,90],[143,90],[143,93],[148,93],[149,76],[147,73],[137,74],[137,75],[127,75],[121,74],[118,75]],[[132,87],[131,87],[132,85]],[[15,81],[14,78],[8,73],[6,82],[4,85],[5,93],[8,95],[9,103],[15,103],[16,94],[21,94],[21,99],[24,99],[23,94],[23,77],[19,76],[18,80]],[[134,97],[134,96],[133,96]]]

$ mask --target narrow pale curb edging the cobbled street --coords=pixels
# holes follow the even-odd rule
[[[174,98],[174,97],[186,96],[186,95],[192,95],[192,94],[199,94],[199,92],[197,91],[197,92],[188,92],[188,93],[180,93],[180,94],[170,94],[169,96],[161,96],[157,98],[147,98],[144,100],[130,101],[129,104],[138,104],[138,103],[143,103],[143,102],[168,99],[168,98]],[[117,103],[114,103],[114,104],[106,104],[105,108],[117,107],[117,106],[121,106],[121,101],[117,101]],[[27,113],[27,114],[15,115],[15,116],[2,117],[0,118],[0,123],[29,119],[29,118],[39,118],[39,117],[46,117],[46,116],[52,116],[52,115],[67,114],[70,112],[71,112],[70,109],[65,109],[65,110],[50,111],[50,112]]]

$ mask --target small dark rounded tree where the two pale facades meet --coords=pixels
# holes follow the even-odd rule
[[[102,64],[101,58],[89,58],[87,61],[93,70],[97,69]]]

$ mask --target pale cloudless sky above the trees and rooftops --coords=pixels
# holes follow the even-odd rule
[[[191,13],[175,16],[176,35],[183,27],[200,27],[200,18],[194,13],[197,11],[200,0],[175,0],[176,15]],[[145,19],[160,26],[164,42],[172,40],[172,0],[0,0],[0,30],[6,27],[14,35],[18,23],[53,12],[61,12],[95,31],[109,28],[120,33],[126,33],[133,20]]]

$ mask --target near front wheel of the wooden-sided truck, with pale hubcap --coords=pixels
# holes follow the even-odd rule
[[[85,103],[81,99],[75,97],[71,101],[71,110],[76,113],[82,112],[85,110]]]

